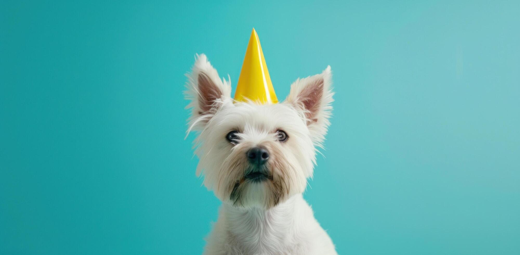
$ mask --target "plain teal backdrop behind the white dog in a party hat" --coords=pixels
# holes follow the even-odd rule
[[[520,254],[520,2],[6,1],[0,254],[199,254],[194,54],[334,73],[305,198],[340,254]]]

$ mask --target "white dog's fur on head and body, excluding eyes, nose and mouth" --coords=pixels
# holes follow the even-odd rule
[[[190,131],[199,157],[197,176],[223,201],[204,254],[336,254],[332,240],[303,199],[317,147],[329,126],[331,70],[298,79],[279,104],[233,102],[229,80],[220,80],[205,55],[188,74]],[[236,130],[238,143],[226,135]],[[289,138],[277,139],[283,130]],[[253,182],[246,152],[269,151],[270,178]]]

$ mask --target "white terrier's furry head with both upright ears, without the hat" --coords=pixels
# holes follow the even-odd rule
[[[262,208],[305,190],[329,126],[330,67],[296,80],[279,104],[233,101],[204,55],[188,78],[188,132],[197,131],[197,176],[208,189],[233,206]]]

